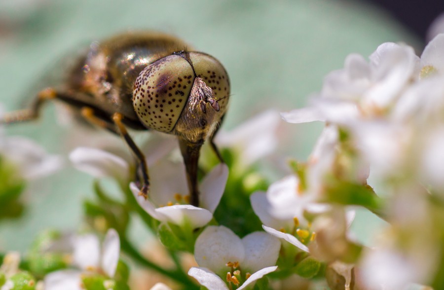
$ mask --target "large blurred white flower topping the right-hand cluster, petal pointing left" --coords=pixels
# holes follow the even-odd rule
[[[379,115],[418,77],[418,63],[411,47],[391,42],[381,44],[370,55],[370,63],[360,55],[349,55],[344,69],[327,75],[311,106],[282,113],[282,117],[290,123],[319,120],[348,125]]]

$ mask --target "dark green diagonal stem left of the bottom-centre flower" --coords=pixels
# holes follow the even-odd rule
[[[154,264],[153,262],[151,262],[148,259],[146,259],[145,257],[143,257],[134,248],[134,246],[131,245],[131,243],[128,240],[126,240],[126,238],[124,238],[124,237],[120,237],[120,247],[123,252],[125,252],[126,254],[131,256],[135,261],[137,261],[141,265],[143,265],[151,270],[154,270],[154,271],[168,277],[169,279],[171,279],[173,281],[176,281],[176,282],[184,285],[186,289],[195,289],[195,290],[199,289],[199,287],[196,286],[195,284],[193,284],[188,279],[188,277],[182,271],[180,271],[180,269],[178,269],[177,271],[169,271],[169,270],[166,270],[166,269]]]

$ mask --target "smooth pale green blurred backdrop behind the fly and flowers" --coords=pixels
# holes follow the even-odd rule
[[[69,58],[70,51],[92,40],[141,29],[179,36],[222,62],[232,84],[225,129],[264,109],[304,106],[350,53],[368,56],[385,41],[406,42],[419,52],[423,46],[383,11],[361,1],[0,0],[0,102],[6,110],[23,107],[44,86],[36,83],[42,75],[63,71],[60,57]],[[321,128],[283,124],[286,144],[277,153],[305,159]],[[74,145],[88,143],[74,131],[57,124],[53,105],[37,123],[7,128],[8,135],[25,135],[64,156]],[[0,251],[25,251],[48,227],[76,229],[91,189],[92,179],[69,162],[57,174],[30,183],[24,215],[0,220]],[[360,212],[353,226],[366,243],[379,225],[375,220]]]

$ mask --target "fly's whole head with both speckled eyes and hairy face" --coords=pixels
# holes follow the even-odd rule
[[[228,93],[228,76],[216,59],[200,52],[180,52],[139,74],[133,106],[147,128],[197,143],[211,136],[220,123]]]

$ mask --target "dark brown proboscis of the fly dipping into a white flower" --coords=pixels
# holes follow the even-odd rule
[[[193,206],[199,206],[199,190],[197,189],[197,162],[199,161],[200,147],[203,140],[198,143],[190,143],[189,141],[179,137],[179,146],[182,156],[184,157],[186,179],[188,181],[189,203]]]

